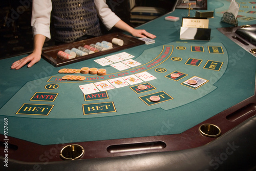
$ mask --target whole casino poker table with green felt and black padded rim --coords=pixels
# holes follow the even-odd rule
[[[59,67],[42,58],[31,68],[11,70],[27,54],[2,59],[1,168],[255,169],[256,58],[218,30],[232,27],[220,22],[216,10],[224,7],[226,2],[208,1],[207,11],[215,11],[209,41],[181,40],[181,17],[188,10],[176,9],[138,27],[157,36],[153,44]],[[165,20],[169,15],[180,20]],[[134,56],[139,65],[118,70],[94,61],[119,53]],[[82,67],[104,68],[106,75],[72,74],[86,77],[75,81],[58,73]],[[146,80],[106,91],[86,95],[79,88],[143,74]],[[191,79],[198,83],[188,84]],[[150,101],[153,95],[160,101]]]

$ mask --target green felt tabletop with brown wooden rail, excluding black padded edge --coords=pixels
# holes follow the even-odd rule
[[[223,8],[223,4],[208,1],[208,11]],[[171,22],[164,17],[186,16],[187,11],[175,10],[139,27],[157,36],[154,44],[61,67],[54,67],[42,58],[31,68],[10,69],[14,61],[27,54],[1,60],[0,118],[2,126],[8,119],[8,133],[4,129],[0,133],[8,136],[1,136],[1,141],[8,139],[9,159],[62,161],[60,150],[74,143],[85,149],[82,159],[197,148],[216,139],[200,134],[198,128],[203,123],[218,126],[224,135],[253,116],[255,56],[217,30],[230,27],[220,22],[219,13],[209,19],[210,41],[180,40],[181,19]],[[255,20],[242,25],[253,22]],[[133,59],[141,65],[119,71],[94,61],[121,52],[135,56]],[[68,81],[61,79],[65,74],[58,73],[61,68],[85,66],[104,68],[107,74],[72,74],[86,76],[86,80]],[[79,88],[79,85],[144,71],[156,79],[101,91],[106,99],[84,95]],[[179,73],[181,77],[172,78],[172,73]],[[200,86],[185,83],[193,77],[203,79],[204,83]],[[136,91],[140,84],[148,85],[148,89]],[[53,97],[36,99],[38,94]],[[147,101],[151,95],[159,95],[161,100],[157,103]],[[136,145],[142,143],[150,143],[156,148],[142,145],[136,150]],[[112,153],[110,149],[121,144],[132,146],[132,150],[127,148],[127,151]],[[6,153],[3,150],[0,154]]]

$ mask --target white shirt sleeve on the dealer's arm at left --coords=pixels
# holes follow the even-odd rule
[[[36,34],[42,34],[46,36],[46,40],[51,39],[51,11],[51,0],[33,0],[31,17],[33,36]]]

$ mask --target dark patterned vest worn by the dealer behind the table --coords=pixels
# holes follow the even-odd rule
[[[94,0],[52,0],[52,17],[57,41],[72,42],[101,33]]]

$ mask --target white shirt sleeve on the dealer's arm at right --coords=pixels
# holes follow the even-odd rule
[[[105,25],[106,29],[110,30],[120,20],[120,18],[111,11],[106,4],[106,0],[94,0],[95,8],[98,16]]]

